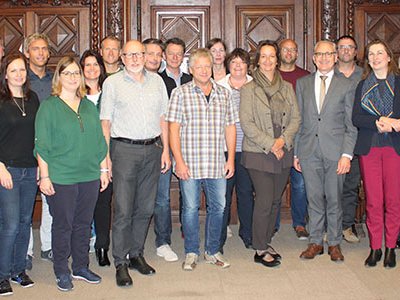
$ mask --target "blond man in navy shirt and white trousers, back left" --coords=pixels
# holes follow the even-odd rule
[[[29,60],[28,76],[32,91],[34,91],[39,101],[43,102],[51,94],[51,85],[53,80],[53,72],[47,68],[50,58],[49,38],[45,34],[33,33],[24,41],[24,54]],[[49,205],[46,196],[41,193],[42,198],[42,214],[40,221],[40,242],[41,251],[40,258],[43,260],[53,261],[53,251],[51,250],[51,225],[53,218],[49,212]],[[33,234],[31,229],[31,237],[27,253],[27,269],[32,269],[33,257]]]

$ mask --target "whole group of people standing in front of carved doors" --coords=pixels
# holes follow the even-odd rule
[[[156,273],[144,258],[153,216],[157,255],[177,261],[172,174],[180,187],[183,270],[194,270],[201,253],[201,190],[207,263],[230,266],[224,245],[235,189],[245,247],[255,250],[255,263],[279,266],[282,256],[271,242],[289,177],[292,226],[299,239],[309,240],[300,258],[323,254],[325,241],[331,260],[343,261],[342,239],[359,241],[360,174],[371,248],[365,265],[382,258],[384,235],[384,266],[395,267],[400,79],[387,44],[367,45],[363,71],[354,38],[319,41],[312,74],[296,65],[291,39],[260,41],[253,64],[244,49],[228,54],[221,39],[212,39],[190,53],[190,75],[182,71],[185,53],[180,38],[122,46],[110,36],[100,53],[87,50],[79,62],[63,57],[52,73],[49,40],[33,34],[24,55],[2,59],[0,295],[13,293],[10,281],[34,285],[26,269],[32,268],[38,186],[41,257],[53,261],[60,290],[72,290],[72,279],[101,282],[89,269],[92,226],[100,266],[111,264],[112,227],[118,286],[132,285],[128,269]]]

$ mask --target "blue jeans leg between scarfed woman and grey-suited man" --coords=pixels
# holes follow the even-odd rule
[[[303,174],[295,168],[290,170],[292,226],[306,226],[307,194]]]

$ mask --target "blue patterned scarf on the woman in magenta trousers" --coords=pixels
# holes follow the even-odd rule
[[[371,115],[390,117],[393,114],[394,81],[394,75],[388,74],[380,89],[375,73],[371,72],[362,86],[361,107]]]

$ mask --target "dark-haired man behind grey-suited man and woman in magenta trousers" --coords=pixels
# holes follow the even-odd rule
[[[350,79],[355,90],[361,81],[363,73],[363,69],[356,64],[357,43],[352,36],[343,35],[337,40],[336,48],[338,51],[338,61],[335,73],[342,74],[344,77]],[[346,174],[342,195],[343,238],[348,243],[360,242],[355,226],[360,181],[360,165],[358,156],[355,155],[351,160],[350,172]]]

